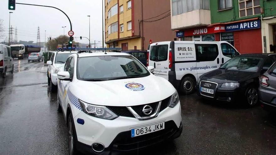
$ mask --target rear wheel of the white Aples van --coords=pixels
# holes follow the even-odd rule
[[[194,92],[195,88],[195,81],[192,77],[187,76],[181,81],[180,91],[185,94],[189,95]]]

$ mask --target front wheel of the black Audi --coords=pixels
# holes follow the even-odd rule
[[[252,107],[258,103],[258,90],[254,86],[249,86],[245,93],[247,106]]]

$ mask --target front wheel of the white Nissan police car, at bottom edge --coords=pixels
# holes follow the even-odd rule
[[[72,113],[68,116],[67,121],[67,134],[68,134],[68,151],[69,155],[77,155],[77,135],[73,121]]]

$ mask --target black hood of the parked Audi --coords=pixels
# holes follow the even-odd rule
[[[226,82],[241,82],[255,76],[256,72],[248,72],[241,70],[224,70],[217,69],[205,73],[200,80],[212,81],[216,83],[226,83]],[[257,75],[258,76],[258,75]]]

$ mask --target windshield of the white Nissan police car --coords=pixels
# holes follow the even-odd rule
[[[150,72],[132,56],[93,56],[78,58],[77,79],[106,81],[145,77]]]

